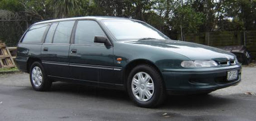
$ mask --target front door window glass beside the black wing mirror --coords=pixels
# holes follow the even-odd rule
[[[94,43],[94,36],[105,36],[97,22],[92,20],[79,20],[75,30],[74,43],[85,45],[101,45]]]

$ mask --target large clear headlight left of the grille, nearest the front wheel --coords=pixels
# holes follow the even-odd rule
[[[218,64],[213,60],[195,60],[195,61],[182,61],[180,64],[184,68],[202,68],[214,67]]]

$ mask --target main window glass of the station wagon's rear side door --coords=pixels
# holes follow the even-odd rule
[[[58,23],[53,37],[53,43],[69,43],[74,21],[62,21]]]

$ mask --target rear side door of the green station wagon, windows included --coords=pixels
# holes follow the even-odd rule
[[[53,22],[41,47],[41,60],[48,75],[68,78],[69,47],[75,21]]]

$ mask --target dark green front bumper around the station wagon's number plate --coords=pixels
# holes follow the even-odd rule
[[[227,81],[228,71],[238,70],[238,77]],[[207,71],[167,71],[162,72],[168,94],[200,94],[237,85],[241,81],[240,65],[213,68]]]

